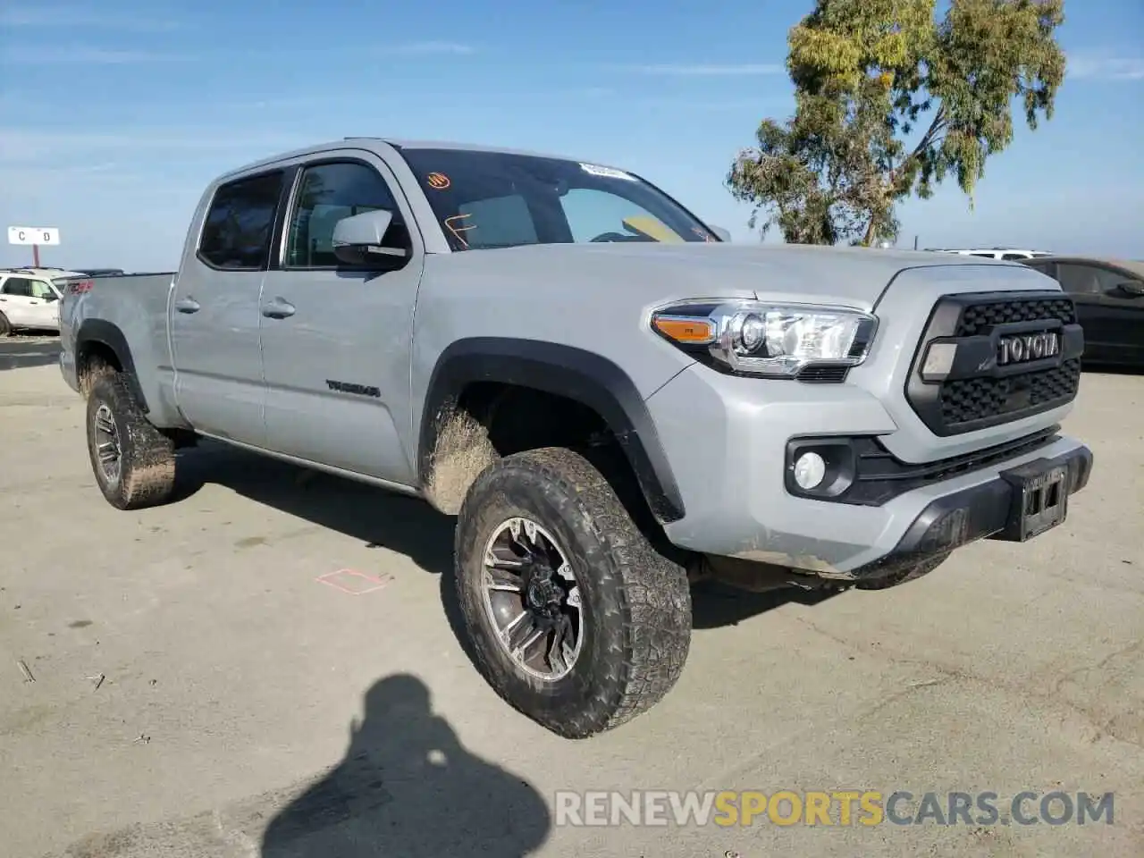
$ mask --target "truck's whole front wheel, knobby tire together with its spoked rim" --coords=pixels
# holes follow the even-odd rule
[[[686,572],[651,547],[601,471],[570,450],[487,467],[461,507],[455,564],[477,668],[513,708],[558,736],[583,739],[630,721],[683,670]]]

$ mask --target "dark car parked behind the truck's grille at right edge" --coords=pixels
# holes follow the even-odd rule
[[[1095,256],[1023,260],[1077,302],[1085,362],[1144,368],[1144,262]]]

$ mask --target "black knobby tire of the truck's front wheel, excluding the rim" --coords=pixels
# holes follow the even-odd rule
[[[484,605],[484,547],[505,522],[531,518],[561,543],[581,598],[583,643],[571,673],[539,680],[509,657]],[[656,551],[587,459],[562,447],[488,466],[466,494],[455,587],[478,670],[513,708],[551,732],[585,739],[659,702],[691,644],[685,570]]]

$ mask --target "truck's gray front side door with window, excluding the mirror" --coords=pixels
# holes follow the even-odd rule
[[[334,224],[376,209],[392,213],[384,243],[406,259],[373,270],[339,263]],[[424,249],[407,228],[408,204],[383,160],[355,152],[303,165],[285,220],[280,267],[262,288],[267,447],[412,485],[403,437]]]

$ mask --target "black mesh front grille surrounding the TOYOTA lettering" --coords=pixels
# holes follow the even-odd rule
[[[1002,336],[1052,332],[1058,353],[1027,366],[999,366]],[[921,378],[927,347],[955,342],[956,358],[942,382]],[[1065,405],[1080,386],[1083,335],[1071,299],[1060,293],[951,295],[930,316],[906,383],[906,398],[939,436],[985,429]]]

